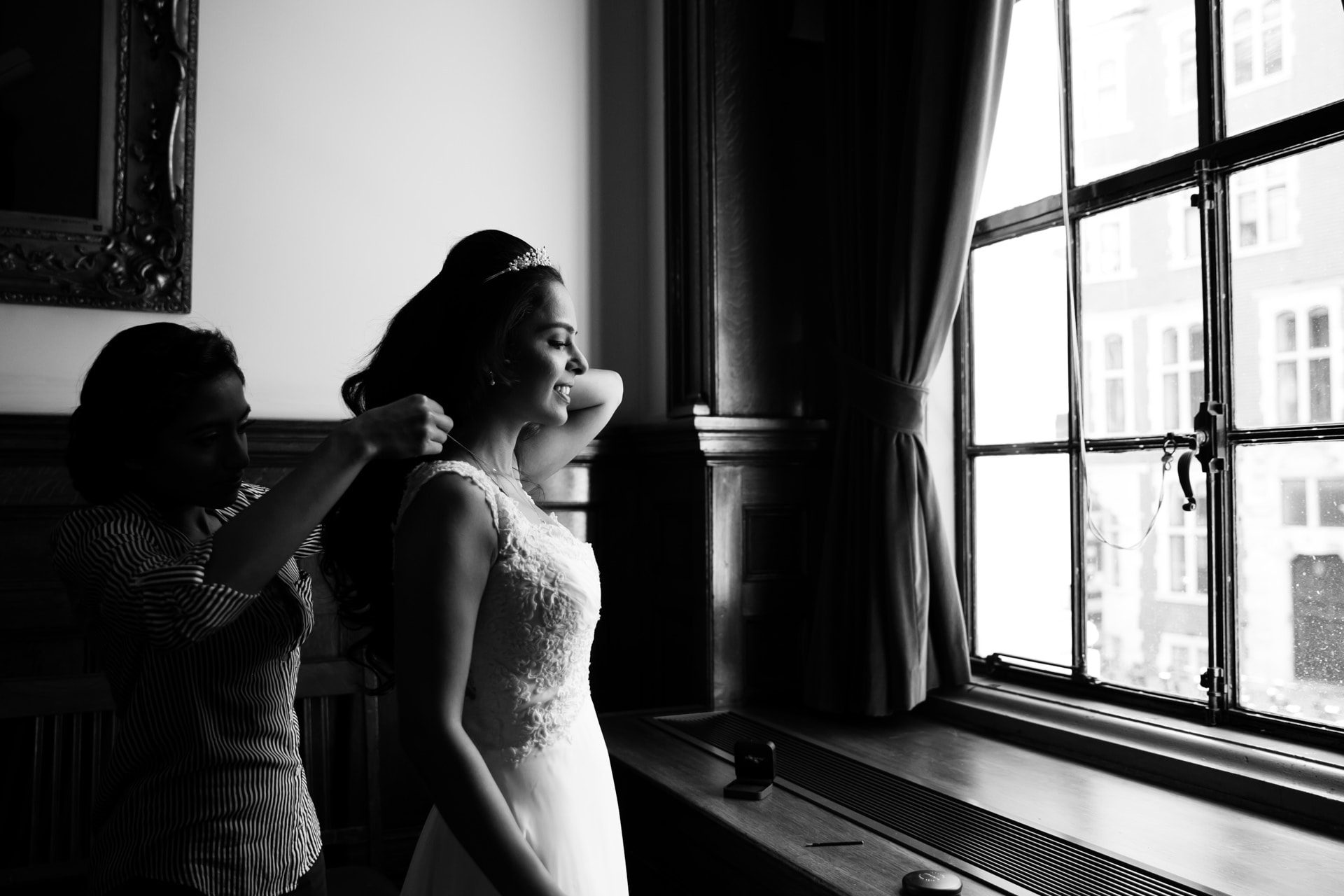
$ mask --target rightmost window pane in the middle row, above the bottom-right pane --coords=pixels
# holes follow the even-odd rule
[[[1246,192],[1270,196],[1262,208],[1281,206],[1282,223],[1261,230],[1261,246],[1232,250],[1232,423],[1344,419],[1332,379],[1344,363],[1344,340],[1332,332],[1344,312],[1344,144],[1234,177]]]

